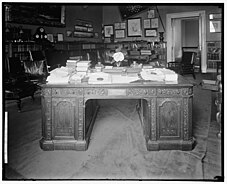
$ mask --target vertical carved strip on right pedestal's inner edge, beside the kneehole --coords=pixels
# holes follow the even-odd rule
[[[148,101],[148,107],[151,112],[151,140],[156,140],[156,99],[151,98]]]

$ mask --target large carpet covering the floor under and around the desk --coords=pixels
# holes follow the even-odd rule
[[[211,103],[210,91],[194,87],[192,151],[147,151],[135,100],[100,100],[87,151],[43,151],[37,97],[9,113],[8,165],[22,179],[202,180]]]

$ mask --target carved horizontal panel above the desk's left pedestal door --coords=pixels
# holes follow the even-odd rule
[[[74,96],[82,96],[83,88],[53,88],[52,96],[59,97],[74,97]]]

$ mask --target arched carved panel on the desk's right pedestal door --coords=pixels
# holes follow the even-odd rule
[[[179,104],[175,101],[165,100],[159,106],[161,136],[179,136]]]

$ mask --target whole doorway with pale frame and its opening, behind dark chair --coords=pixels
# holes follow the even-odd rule
[[[182,56],[182,47],[197,47],[201,72],[206,73],[206,16],[205,11],[172,13],[166,15],[167,62]]]

